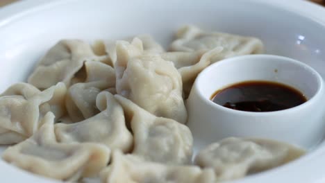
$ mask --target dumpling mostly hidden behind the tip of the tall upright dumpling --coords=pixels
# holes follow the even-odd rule
[[[155,40],[153,40],[153,37],[150,35],[137,35],[135,37],[138,37],[142,41],[143,50],[149,53],[163,53],[165,52],[165,49],[163,49],[163,46],[158,44]],[[126,42],[131,43],[133,41],[134,37],[127,37],[125,39],[122,39]],[[116,55],[116,41],[106,41],[103,44],[105,44],[106,53],[110,56],[110,59],[112,60],[113,64],[115,64],[117,60]]]

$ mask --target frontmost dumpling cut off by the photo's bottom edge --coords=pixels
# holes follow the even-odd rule
[[[135,155],[113,152],[112,163],[101,171],[101,181],[106,183],[212,183],[212,169],[198,166],[170,166],[144,161]]]

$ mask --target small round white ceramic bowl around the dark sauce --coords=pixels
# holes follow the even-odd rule
[[[308,101],[287,110],[244,112],[210,100],[219,90],[238,82],[279,82],[299,90]],[[228,58],[203,70],[187,101],[188,126],[196,150],[226,137],[258,137],[311,148],[324,135],[324,81],[307,64],[276,55]]]

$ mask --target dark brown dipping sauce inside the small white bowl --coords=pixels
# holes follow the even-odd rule
[[[249,112],[286,110],[307,101],[297,89],[269,81],[239,82],[217,90],[211,100],[233,110]]]

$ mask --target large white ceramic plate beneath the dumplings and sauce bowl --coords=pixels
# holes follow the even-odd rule
[[[149,33],[167,46],[183,24],[260,37],[267,53],[306,62],[325,77],[325,8],[306,1],[30,0],[0,9],[0,91],[25,81],[33,64],[62,38],[117,39]],[[324,168],[325,148],[320,143],[297,161],[236,182],[320,183],[325,182]],[[0,172],[0,182],[53,182],[2,160]]]

